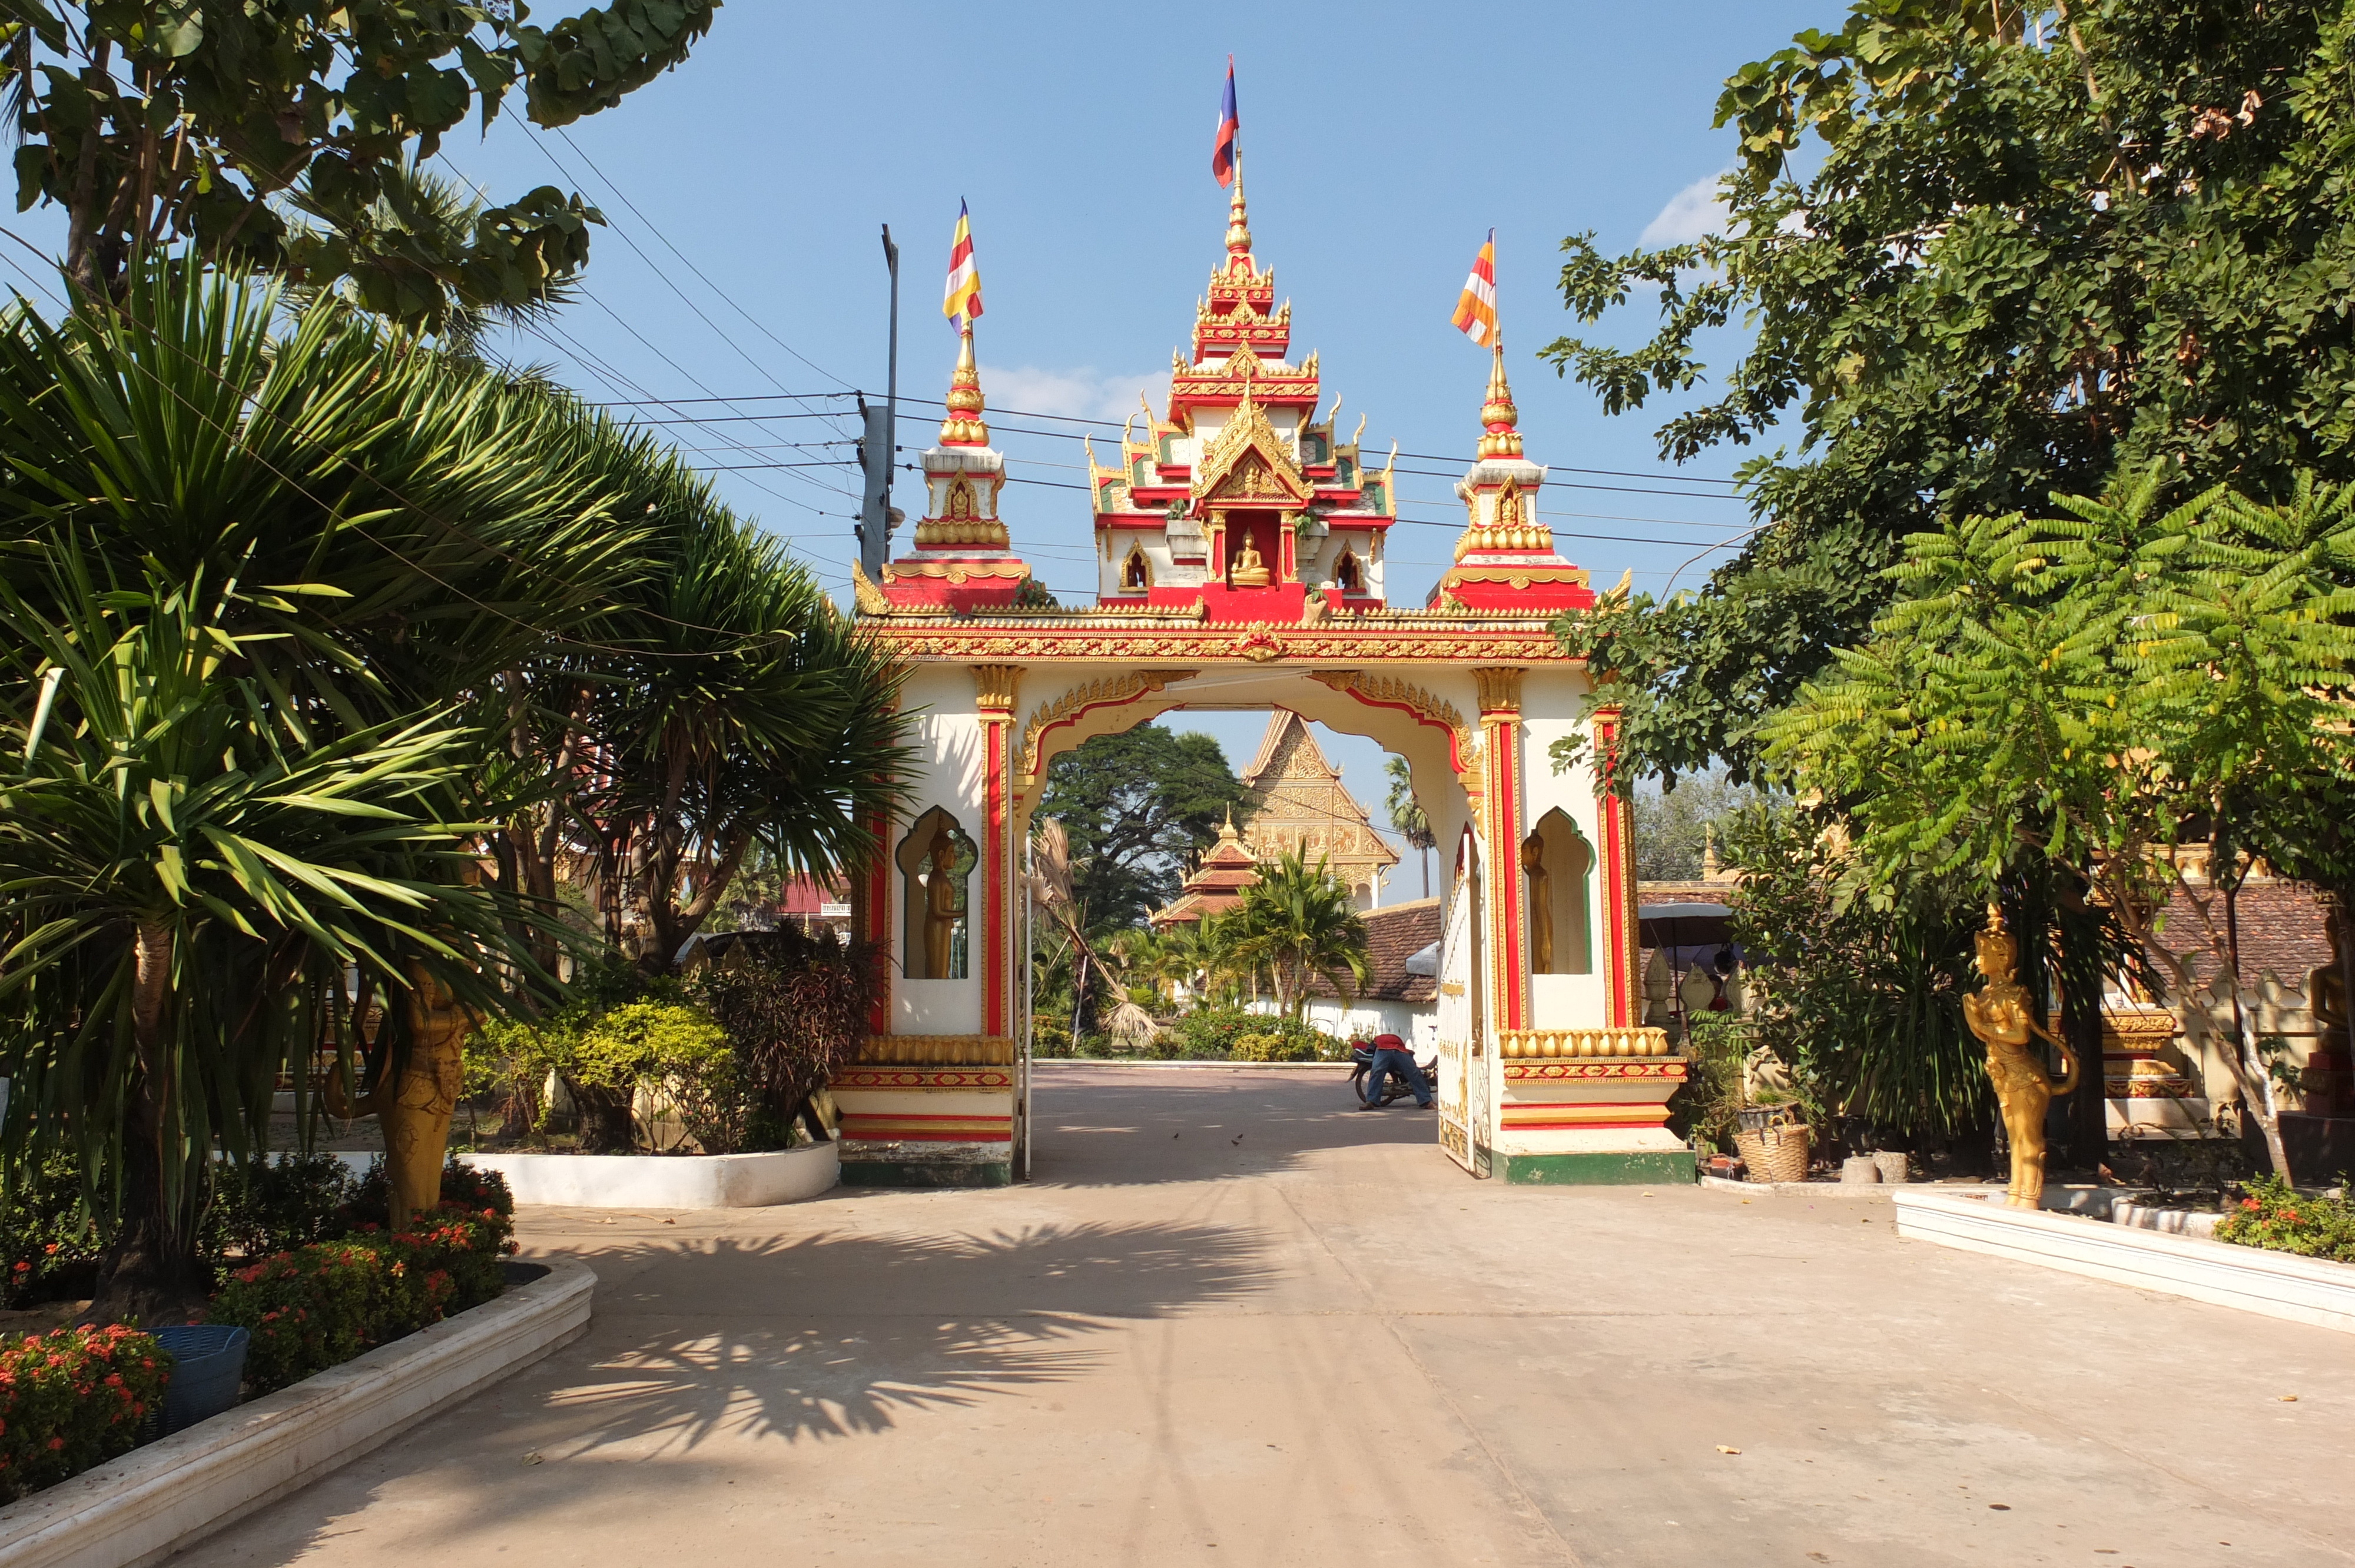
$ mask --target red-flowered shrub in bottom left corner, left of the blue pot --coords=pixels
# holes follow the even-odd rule
[[[172,1354],[130,1328],[59,1328],[0,1347],[0,1502],[139,1443]]]

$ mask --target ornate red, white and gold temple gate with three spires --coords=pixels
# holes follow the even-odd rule
[[[857,577],[862,629],[911,669],[918,765],[853,899],[893,965],[867,1050],[834,1081],[845,1182],[989,1184],[1027,1165],[1022,862],[1046,768],[1182,706],[1291,709],[1373,737],[1460,845],[1439,1118],[1455,1158],[1512,1182],[1691,1172],[1663,1125],[1686,1064],[1637,1026],[1627,815],[1597,793],[1616,716],[1547,631],[1594,593],[1538,520],[1545,469],[1521,454],[1502,351],[1458,485],[1455,565],[1427,605],[1397,607],[1394,476],[1366,469],[1331,412],[1319,421],[1316,356],[1293,363],[1288,341],[1236,179],[1166,414],[1130,421],[1119,466],[1090,450],[1097,598],[1062,607],[1027,591],[999,518],[1006,459],[966,327],[914,549],[881,584]],[[1557,768],[1561,744],[1578,758]]]

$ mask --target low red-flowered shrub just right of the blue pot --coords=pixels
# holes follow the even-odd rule
[[[210,1318],[252,1333],[245,1380],[266,1394],[499,1295],[511,1234],[497,1208],[443,1203],[405,1231],[365,1229],[247,1264]]]

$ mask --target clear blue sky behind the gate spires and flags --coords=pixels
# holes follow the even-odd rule
[[[546,21],[575,5],[537,9]],[[1573,327],[1554,252],[1585,228],[1606,247],[1696,233],[1731,160],[1731,134],[1710,127],[1722,80],[1842,14],[1842,0],[1580,0],[1239,7],[1218,21],[1145,5],[737,0],[681,71],[619,108],[560,134],[502,118],[487,137],[455,134],[443,160],[495,200],[558,184],[603,207],[612,226],[593,238],[586,297],[520,334],[513,358],[589,398],[695,398],[643,412],[706,466],[817,464],[723,485],[843,598],[857,480],[824,466],[850,454],[824,443],[850,426],[761,417],[848,405],[780,393],[883,388],[885,221],[902,247],[902,393],[944,393],[956,344],[940,287],[968,200],[982,384],[1010,476],[1029,480],[1008,487],[1003,516],[1039,577],[1083,598],[1086,497],[1055,487],[1079,478],[1079,443],[1015,433],[1081,426],[1003,410],[1119,421],[1168,374],[1222,254],[1227,198],[1208,160],[1232,52],[1255,250],[1293,299],[1295,356],[1321,353],[1342,421],[1368,417],[1368,452],[1397,440],[1451,457],[1399,464],[1432,476],[1401,483],[1401,516],[1420,523],[1392,542],[1392,600],[1422,600],[1460,520],[1451,485],[1479,433],[1486,356],[1448,311],[1491,224],[1521,431],[1557,466],[1545,511],[1561,551],[1597,586],[1632,570],[1660,589],[1679,567],[1691,586],[1747,513],[1724,485],[1686,480],[1724,478],[1740,454],[1651,478],[1665,412],[1606,419],[1533,358]],[[45,217],[12,226],[54,245]],[[1646,320],[1632,308],[1613,330],[1632,339]],[[1738,344],[1724,348],[1719,360]],[[902,445],[933,428],[911,412]],[[1241,765],[1260,720],[1199,727]],[[1326,739],[1378,810],[1371,742]]]

